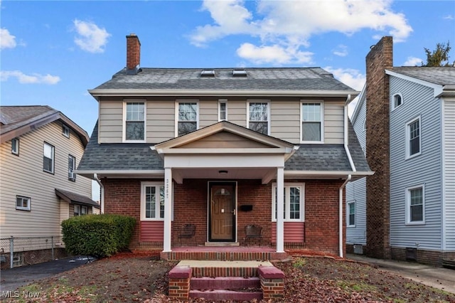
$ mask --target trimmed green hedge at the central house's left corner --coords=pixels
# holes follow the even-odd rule
[[[62,222],[63,242],[71,255],[109,257],[128,248],[136,220],[121,215],[85,215]]]

